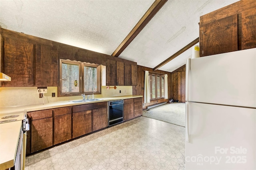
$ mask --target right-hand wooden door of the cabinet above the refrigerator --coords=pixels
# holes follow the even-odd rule
[[[256,48],[256,10],[242,12],[242,50]]]

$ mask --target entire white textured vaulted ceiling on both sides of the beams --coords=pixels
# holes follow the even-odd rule
[[[172,72],[191,58],[192,48],[177,52],[199,37],[200,16],[237,1],[0,0],[0,27],[107,55],[135,29],[138,35],[118,57]],[[148,14],[146,26],[135,27]]]

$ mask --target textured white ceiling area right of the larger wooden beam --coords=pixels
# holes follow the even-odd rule
[[[154,68],[199,37],[200,16],[236,1],[168,0],[120,57]],[[172,72],[191,55],[192,48],[159,70]]]

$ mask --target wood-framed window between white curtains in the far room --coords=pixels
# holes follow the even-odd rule
[[[164,98],[164,75],[149,73],[150,100]]]

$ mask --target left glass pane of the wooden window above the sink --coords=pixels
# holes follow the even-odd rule
[[[79,65],[62,63],[62,92],[79,92]]]

